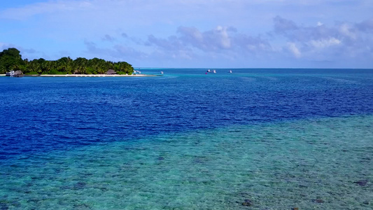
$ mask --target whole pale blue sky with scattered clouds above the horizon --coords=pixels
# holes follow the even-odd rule
[[[372,0],[0,2],[0,50],[154,68],[373,68]]]

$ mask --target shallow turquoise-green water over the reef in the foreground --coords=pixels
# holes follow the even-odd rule
[[[372,209],[373,116],[239,125],[35,154],[0,209]]]

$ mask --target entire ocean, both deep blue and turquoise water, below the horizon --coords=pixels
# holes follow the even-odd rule
[[[373,209],[373,69],[139,70],[0,77],[0,209]]]

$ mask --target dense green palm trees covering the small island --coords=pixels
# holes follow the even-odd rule
[[[40,58],[29,61],[22,59],[20,50],[16,48],[8,48],[0,52],[0,73],[2,74],[11,70],[21,70],[24,74],[97,74],[106,73],[109,69],[113,69],[118,74],[134,72],[132,65],[127,62],[110,62],[96,57],[93,59],[62,57],[55,61]]]

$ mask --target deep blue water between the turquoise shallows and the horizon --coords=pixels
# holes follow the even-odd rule
[[[372,69],[141,69],[146,78],[0,77],[0,159],[167,132],[373,113]]]

